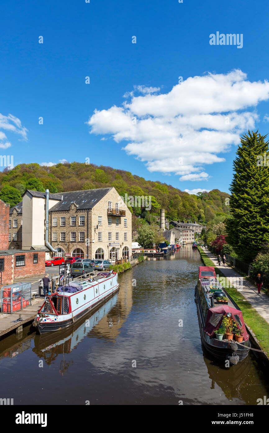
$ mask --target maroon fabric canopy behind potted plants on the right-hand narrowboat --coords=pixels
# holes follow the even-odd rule
[[[202,266],[200,266],[200,268],[202,268]],[[228,307],[228,305],[209,308],[204,331],[212,338],[215,330],[217,330],[221,325],[222,316],[226,313],[231,313],[231,317],[237,323],[237,328],[243,331],[244,340],[247,341],[249,339],[249,335],[244,324],[242,311],[236,310],[236,308]]]

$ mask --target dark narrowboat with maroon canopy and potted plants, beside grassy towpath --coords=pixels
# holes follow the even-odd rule
[[[219,295],[219,296],[218,296]],[[217,304],[217,297],[226,297],[223,305]],[[229,360],[229,365],[236,365],[248,355],[250,350],[249,334],[247,333],[242,311],[225,291],[216,278],[212,266],[199,266],[199,278],[195,287],[195,302],[199,320],[199,328],[203,347],[218,361]],[[216,306],[215,306],[216,305]],[[222,320],[231,321],[233,332],[217,338]],[[234,333],[241,332],[243,341],[238,343]],[[240,330],[240,331],[239,331]],[[227,338],[225,338],[225,336]]]

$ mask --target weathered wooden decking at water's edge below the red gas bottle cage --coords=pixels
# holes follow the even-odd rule
[[[3,317],[3,319],[0,319],[0,338],[3,338],[5,334],[8,334],[10,331],[16,330],[16,332],[19,332],[22,330],[23,325],[31,323],[35,319],[36,313],[41,308],[43,302],[43,299],[40,299],[40,302],[30,307],[25,307],[16,313],[8,314],[6,317]],[[14,322],[14,320],[19,319],[19,315],[21,315],[22,320]]]

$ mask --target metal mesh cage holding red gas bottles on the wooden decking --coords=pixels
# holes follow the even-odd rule
[[[0,289],[1,313],[15,313],[32,305],[31,283],[16,283]]]

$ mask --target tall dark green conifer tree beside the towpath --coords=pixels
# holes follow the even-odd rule
[[[246,261],[256,257],[269,240],[269,168],[259,165],[259,156],[268,152],[265,139],[258,131],[248,131],[241,138],[233,164],[230,187],[233,218],[227,221],[227,240]]]

